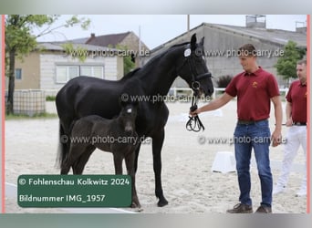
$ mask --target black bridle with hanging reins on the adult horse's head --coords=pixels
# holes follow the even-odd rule
[[[195,55],[197,55],[197,54],[199,54],[199,49],[195,49]],[[194,60],[191,57],[191,49],[190,48],[187,48],[184,50],[184,57],[185,57],[185,61],[182,65],[182,67],[184,66],[185,63],[187,63],[188,66],[190,67],[190,72],[191,72],[191,76],[192,76],[191,87],[192,87],[193,93],[192,93],[192,106],[191,106],[190,110],[194,111],[198,108],[197,107],[198,95],[199,95],[199,90],[201,87],[199,80],[201,78],[205,78],[205,77],[212,77],[212,74],[210,72],[203,73],[200,75],[197,74],[197,70],[196,70],[195,64],[193,62]],[[185,127],[186,127],[186,130],[195,131],[195,132],[198,132],[200,130],[204,130],[203,123],[202,123],[201,119],[199,119],[198,115],[196,115],[194,117],[189,116],[189,120],[186,122]]]

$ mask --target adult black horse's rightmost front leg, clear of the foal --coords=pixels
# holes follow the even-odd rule
[[[152,137],[152,159],[155,173],[155,195],[159,199],[157,205],[162,207],[168,204],[168,201],[163,196],[161,187],[161,149],[164,140],[164,129],[157,132]]]

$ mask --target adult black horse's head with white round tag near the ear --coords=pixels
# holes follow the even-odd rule
[[[196,34],[194,34],[191,43],[182,46],[183,53],[178,58],[177,74],[189,84],[197,96],[202,93],[205,96],[211,96],[213,94],[213,80],[205,62],[203,41],[204,37],[197,44]]]

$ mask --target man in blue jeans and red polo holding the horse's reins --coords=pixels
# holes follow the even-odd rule
[[[256,212],[272,212],[273,180],[269,160],[269,146],[281,142],[282,104],[276,78],[256,63],[256,50],[251,44],[239,48],[239,59],[244,72],[236,75],[225,89],[224,95],[190,114],[198,115],[203,111],[219,109],[237,97],[237,124],[234,130],[234,150],[239,201],[230,213],[253,212],[250,197],[250,159],[255,151],[258,174],[261,183],[262,202]],[[268,118],[271,101],[275,108],[276,128],[270,133]],[[272,139],[272,140],[271,140]]]

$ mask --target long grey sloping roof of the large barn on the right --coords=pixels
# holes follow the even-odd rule
[[[255,28],[245,26],[227,26],[219,24],[202,23],[199,26],[193,27],[190,30],[190,33],[203,26],[215,29],[223,29],[224,31],[235,34],[241,34],[242,36],[255,37],[262,41],[271,42],[279,46],[284,46],[289,40],[293,40],[296,42],[298,47],[307,47],[307,34],[281,29]],[[161,46],[153,48],[151,52],[155,52],[161,49],[162,47],[166,47],[167,44],[172,43],[172,41],[175,39],[182,38],[182,36],[187,36],[187,33],[185,32],[180,36],[172,38],[171,40],[162,44]]]

